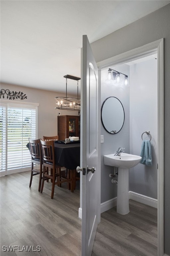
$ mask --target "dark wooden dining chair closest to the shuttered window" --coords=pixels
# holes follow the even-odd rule
[[[41,143],[40,139],[33,140],[29,138],[30,144],[30,153],[31,153],[31,178],[30,178],[30,188],[33,180],[33,176],[40,175],[39,178],[39,192],[41,190],[41,183],[42,183],[42,150],[41,150]],[[34,169],[34,164],[40,165],[40,170]]]

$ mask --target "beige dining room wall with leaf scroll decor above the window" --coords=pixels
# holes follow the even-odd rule
[[[38,131],[37,138],[42,138],[42,136],[54,136],[58,134],[57,131],[57,115],[58,112],[61,115],[78,115],[78,112],[70,112],[70,111],[59,111],[55,110],[57,106],[55,104],[56,96],[65,96],[64,94],[45,91],[39,89],[33,89],[25,86],[11,85],[1,83],[1,90],[9,89],[10,91],[21,91],[26,94],[27,99],[17,100],[22,102],[32,102],[39,103],[38,107]],[[6,97],[4,98],[6,99]],[[7,100],[7,99],[6,99]],[[15,100],[9,100],[9,102],[15,102]]]

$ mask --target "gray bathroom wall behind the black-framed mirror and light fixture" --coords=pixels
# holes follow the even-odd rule
[[[120,65],[110,67],[124,74],[129,75],[129,66]],[[109,134],[101,125],[101,134],[104,135],[104,143],[101,144],[101,203],[106,202],[117,196],[117,185],[111,183],[110,173],[113,173],[113,167],[104,165],[103,155],[116,153],[119,147],[125,148],[125,152],[129,153],[129,87],[115,86],[112,83],[106,82],[108,77],[108,69],[101,71],[101,105],[104,100],[110,96],[118,98],[125,111],[125,122],[120,132],[117,134]],[[112,112],[110,110],[110,118]]]

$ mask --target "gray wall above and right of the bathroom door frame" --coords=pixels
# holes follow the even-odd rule
[[[150,42],[164,38],[164,90],[165,90],[165,121],[164,121],[164,148],[165,148],[165,183],[164,183],[164,242],[165,253],[170,255],[170,4],[165,7],[119,29],[110,35],[93,43],[91,47],[97,62],[143,46]]]

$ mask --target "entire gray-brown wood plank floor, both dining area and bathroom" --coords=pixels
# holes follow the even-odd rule
[[[81,220],[79,184],[71,193],[66,184],[45,182],[38,192],[38,175],[29,188],[30,171],[0,178],[0,255],[80,256]],[[156,256],[157,209],[129,200],[130,212],[121,215],[116,207],[101,214],[92,256]],[[3,252],[3,245],[41,246],[40,252]]]

